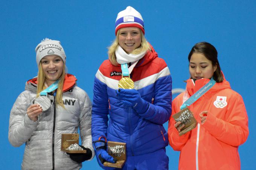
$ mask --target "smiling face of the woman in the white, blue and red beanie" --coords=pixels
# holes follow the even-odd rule
[[[130,54],[131,51],[141,45],[140,29],[137,27],[121,28],[118,35],[118,42],[120,47],[122,47],[127,54]]]

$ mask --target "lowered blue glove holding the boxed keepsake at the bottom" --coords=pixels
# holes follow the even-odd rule
[[[105,170],[113,170],[114,168],[105,167],[103,165],[105,161],[111,162],[111,163],[116,163],[116,159],[113,158],[112,156],[108,155],[108,152],[106,151],[106,149],[107,149],[106,138],[105,138],[105,141],[100,140],[100,139],[101,139],[101,137],[99,138],[98,141],[93,141],[93,147],[94,147],[94,150],[96,153],[96,158],[97,158],[98,164]]]

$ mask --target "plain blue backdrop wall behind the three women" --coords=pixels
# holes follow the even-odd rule
[[[256,1],[254,0],[55,0],[1,1],[0,6],[0,169],[20,169],[24,145],[8,141],[9,113],[26,80],[37,75],[35,47],[43,38],[61,41],[69,73],[93,97],[93,80],[114,35],[117,13],[133,6],[145,22],[145,36],[159,57],[165,59],[173,88],[185,88],[189,78],[187,55],[200,41],[213,44],[232,88],[247,108],[250,135],[239,147],[241,168],[254,168]],[[175,96],[175,95],[174,95]],[[254,110],[254,111],[253,111]],[[167,128],[167,123],[165,124]],[[177,169],[179,152],[167,147],[169,168]],[[82,169],[100,169],[96,158]]]

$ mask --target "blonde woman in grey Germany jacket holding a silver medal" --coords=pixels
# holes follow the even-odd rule
[[[9,141],[26,144],[21,168],[76,170],[91,160],[91,101],[66,74],[66,54],[59,41],[45,39],[35,49],[38,76],[27,81],[15,101],[9,120]],[[61,151],[61,134],[77,133],[86,153]]]

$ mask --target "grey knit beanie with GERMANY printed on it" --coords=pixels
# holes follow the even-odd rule
[[[66,54],[59,41],[45,38],[37,45],[35,52],[37,53],[37,66],[39,66],[43,57],[53,54],[61,57],[63,62],[66,63]]]

